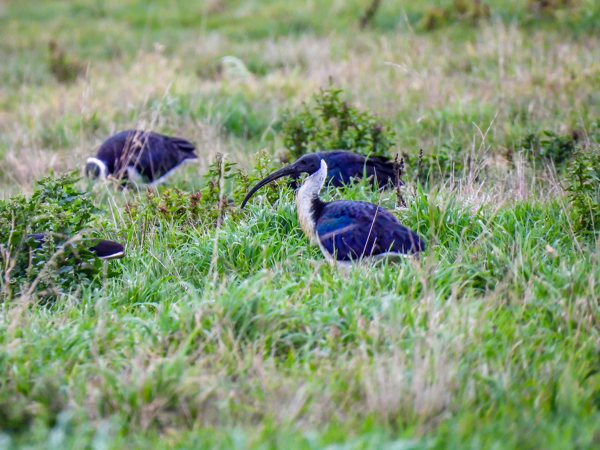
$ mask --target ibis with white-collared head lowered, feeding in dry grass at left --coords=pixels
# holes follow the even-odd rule
[[[127,180],[158,184],[185,161],[197,158],[194,145],[179,137],[151,131],[127,130],[105,140],[95,157],[88,158],[87,176],[109,174]]]

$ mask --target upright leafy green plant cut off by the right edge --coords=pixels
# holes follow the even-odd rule
[[[575,232],[600,230],[600,147],[578,149],[569,165],[567,187]]]

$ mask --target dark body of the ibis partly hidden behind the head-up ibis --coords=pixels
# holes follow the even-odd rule
[[[396,185],[394,161],[388,157],[365,156],[348,150],[316,152],[315,155],[327,164],[326,184],[341,187],[344,184],[350,184],[353,178],[361,179],[366,176],[373,185],[377,181],[379,190],[383,190],[389,185]],[[295,175],[292,178],[296,180],[298,176]],[[295,181],[292,183],[292,187],[296,188]]]

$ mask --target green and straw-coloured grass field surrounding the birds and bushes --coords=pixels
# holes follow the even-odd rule
[[[600,445],[599,227],[568,191],[600,142],[600,5],[382,0],[361,29],[370,4],[0,2],[0,199],[127,128],[200,156],[158,194],[78,182],[127,257],[0,300],[0,448]],[[218,203],[247,186],[215,188],[217,154],[280,165],[330,78],[395,132],[407,208],[323,195],[395,209],[419,260],[328,265],[284,184]]]

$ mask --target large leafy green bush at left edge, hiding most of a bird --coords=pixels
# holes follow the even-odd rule
[[[90,250],[88,229],[98,209],[76,176],[47,176],[31,198],[0,200],[0,299],[27,293],[52,298],[100,280],[102,262]],[[48,233],[43,245],[30,233]]]

